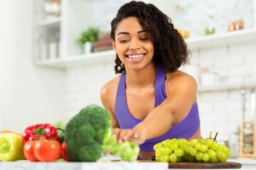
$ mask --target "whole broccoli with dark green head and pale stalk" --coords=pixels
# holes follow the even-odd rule
[[[139,145],[112,137],[110,113],[100,106],[87,106],[71,118],[65,128],[68,157],[73,162],[96,162],[102,152],[110,150],[122,159],[137,159]]]

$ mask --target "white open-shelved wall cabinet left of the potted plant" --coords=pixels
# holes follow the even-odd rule
[[[76,44],[80,33],[92,26],[93,1],[62,0],[60,14],[49,17],[46,4],[50,0],[35,1],[34,61],[63,60],[81,54]],[[52,3],[53,4],[53,3]]]

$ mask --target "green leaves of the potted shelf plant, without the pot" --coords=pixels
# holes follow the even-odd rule
[[[89,27],[87,31],[81,33],[81,37],[77,40],[78,45],[84,46],[85,42],[95,42],[99,39],[100,30],[95,27]]]

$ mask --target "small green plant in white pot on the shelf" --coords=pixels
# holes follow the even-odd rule
[[[99,39],[99,36],[98,36],[99,32],[100,30],[98,28],[89,27],[88,30],[83,31],[81,33],[81,37],[77,40],[77,42],[78,42],[78,45],[83,47],[85,54],[93,52],[92,42],[95,42]]]

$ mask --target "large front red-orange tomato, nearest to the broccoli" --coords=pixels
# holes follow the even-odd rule
[[[61,147],[57,140],[36,140],[34,154],[41,162],[54,162],[60,159]]]

